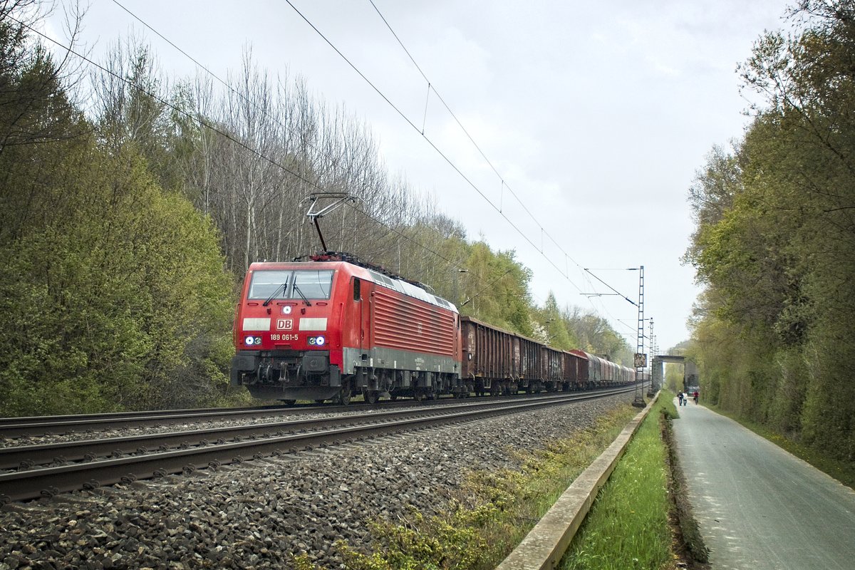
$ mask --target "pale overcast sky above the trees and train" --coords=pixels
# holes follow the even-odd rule
[[[469,238],[516,250],[537,303],[552,291],[559,306],[595,310],[634,346],[636,308],[583,295],[612,291],[582,268],[635,301],[638,272],[614,269],[643,265],[658,345],[688,338],[699,289],[680,262],[693,231],[687,188],[713,144],[741,136],[748,103],[736,66],[764,29],[787,27],[789,3],[374,0],[499,178],[435,93],[425,117],[428,85],[369,0],[292,1],[418,130],[284,1],[121,4],[220,77],[249,45],[262,68],[344,105],[369,124],[390,171],[436,197]],[[111,0],[92,0],[84,26],[97,60],[133,31],[164,73],[197,73]]]

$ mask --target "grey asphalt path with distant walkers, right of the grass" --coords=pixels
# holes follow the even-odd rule
[[[703,406],[678,409],[677,454],[713,570],[855,569],[855,491]]]

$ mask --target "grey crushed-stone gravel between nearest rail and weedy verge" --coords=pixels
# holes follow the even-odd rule
[[[567,437],[632,396],[9,504],[0,570],[343,567],[333,543],[369,551],[370,520],[442,508],[466,472],[516,467],[506,445]]]

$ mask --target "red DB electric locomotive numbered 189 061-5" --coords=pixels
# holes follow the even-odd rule
[[[286,403],[463,393],[454,305],[353,256],[310,259],[250,266],[233,385]]]

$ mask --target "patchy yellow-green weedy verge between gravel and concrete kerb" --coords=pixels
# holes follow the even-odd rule
[[[469,473],[464,484],[451,491],[439,514],[413,510],[403,523],[374,521],[374,543],[368,552],[337,544],[345,566],[351,570],[496,567],[637,412],[626,404],[545,449],[511,450],[517,469]]]

